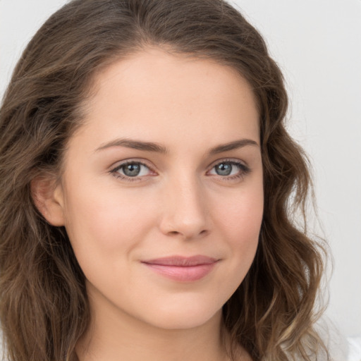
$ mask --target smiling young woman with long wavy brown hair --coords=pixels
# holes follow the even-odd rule
[[[293,222],[310,176],[286,109],[223,1],[51,16],[1,107],[8,359],[315,359],[322,249]]]

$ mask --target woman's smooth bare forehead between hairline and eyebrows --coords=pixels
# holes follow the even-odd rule
[[[235,69],[149,48],[116,61],[94,78],[85,128],[99,138],[172,137],[229,142],[234,133],[259,137],[250,85]],[[244,133],[244,134],[243,134]],[[227,139],[216,139],[224,135]],[[147,139],[145,139],[147,140]],[[232,139],[231,139],[232,140]],[[106,141],[104,139],[104,141]]]

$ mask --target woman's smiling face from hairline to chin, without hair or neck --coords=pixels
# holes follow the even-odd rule
[[[233,69],[148,49],[97,75],[59,185],[90,304],[164,329],[220,314],[263,212],[258,114]]]

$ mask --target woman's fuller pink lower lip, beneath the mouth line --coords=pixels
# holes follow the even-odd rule
[[[179,282],[192,282],[203,279],[214,268],[216,262],[210,264],[198,264],[197,266],[179,267],[166,266],[164,264],[145,263],[152,271],[157,272],[169,279]]]

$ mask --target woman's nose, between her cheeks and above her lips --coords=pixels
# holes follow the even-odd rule
[[[161,232],[185,240],[200,238],[210,231],[210,217],[202,185],[197,180],[171,182],[161,202]]]

